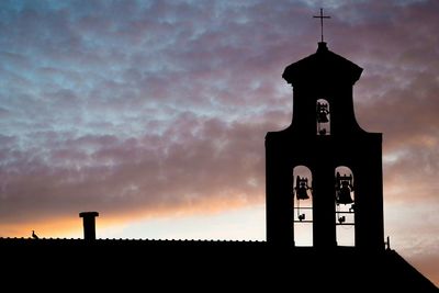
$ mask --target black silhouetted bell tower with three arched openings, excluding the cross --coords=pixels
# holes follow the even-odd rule
[[[356,248],[384,249],[382,134],[363,131],[353,112],[361,72],[325,42],[285,68],[293,120],[266,136],[270,245],[295,246],[294,227],[307,224],[317,249],[338,246],[339,227],[353,229]]]

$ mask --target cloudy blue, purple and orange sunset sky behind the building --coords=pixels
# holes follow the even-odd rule
[[[439,1],[0,2],[0,236],[264,240],[264,135],[284,68],[364,70],[391,247],[439,284]]]

